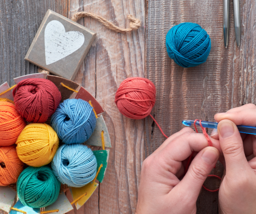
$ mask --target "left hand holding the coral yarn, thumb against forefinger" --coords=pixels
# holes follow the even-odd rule
[[[219,141],[212,143],[209,147],[205,136],[191,128],[167,138],[142,164],[137,214],[196,213],[199,192],[219,158]],[[184,176],[193,151],[195,158]]]

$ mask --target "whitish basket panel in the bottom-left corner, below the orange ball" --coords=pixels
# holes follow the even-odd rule
[[[10,212],[16,192],[7,186],[0,186],[0,209]]]

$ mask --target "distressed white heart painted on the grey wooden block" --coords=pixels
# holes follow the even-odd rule
[[[63,24],[50,21],[44,31],[46,65],[57,62],[77,51],[84,44],[84,35],[79,31],[66,32]]]

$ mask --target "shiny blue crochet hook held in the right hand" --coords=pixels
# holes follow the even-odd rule
[[[185,126],[191,126],[194,124],[194,121],[195,120],[182,120],[182,124]],[[217,128],[218,127],[218,122],[201,121],[201,124],[204,128]],[[196,121],[196,125],[200,126],[200,122]],[[237,126],[237,128],[240,133],[256,135],[256,127]]]

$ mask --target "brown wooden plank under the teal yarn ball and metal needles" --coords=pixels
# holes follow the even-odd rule
[[[214,121],[214,114],[255,103],[255,1],[240,1],[242,45],[236,46],[233,2],[230,1],[229,46],[223,45],[222,1],[147,0],[146,77],[156,86],[152,113],[166,135],[183,128],[182,119]],[[184,69],[166,53],[165,36],[175,24],[195,22],[210,35],[212,50],[206,63]],[[145,121],[146,157],[165,140],[150,118]],[[216,174],[221,175],[220,166]],[[210,184],[214,188],[218,180]],[[218,194],[202,191],[197,213],[217,213]]]

